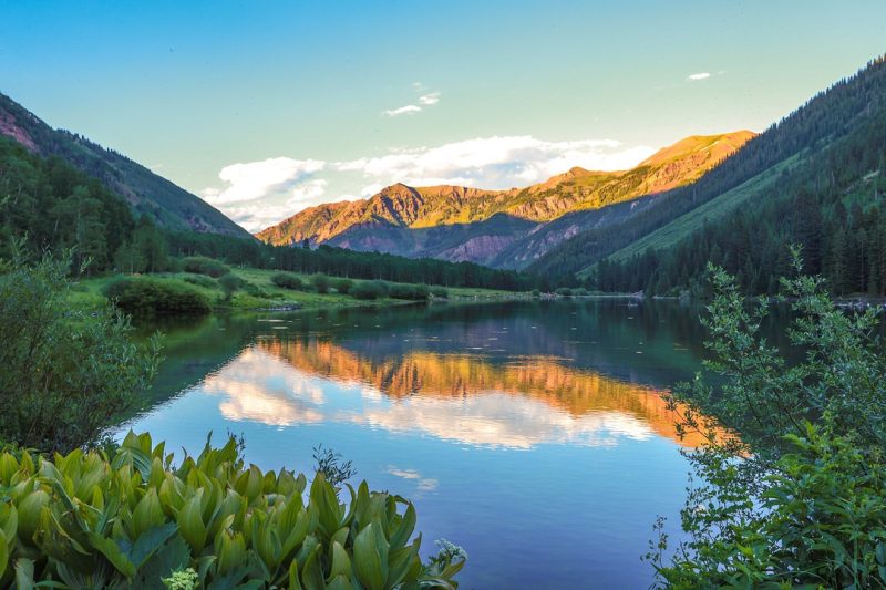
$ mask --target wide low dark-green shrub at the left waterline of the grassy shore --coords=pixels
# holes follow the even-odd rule
[[[117,308],[134,315],[204,314],[212,311],[209,299],[185,282],[153,277],[131,277],[110,283],[104,294]]]

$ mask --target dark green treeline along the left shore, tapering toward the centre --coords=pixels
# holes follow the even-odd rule
[[[163,230],[151,214],[136,218],[122,197],[95,178],[0,137],[0,258],[11,256],[13,240],[24,240],[34,255],[73,248],[75,261],[91,260],[91,273],[161,272],[172,268],[171,257],[200,255],[230,265],[357,279],[505,290],[552,287],[529,275],[471,262],[328,246],[275,247],[249,238]]]

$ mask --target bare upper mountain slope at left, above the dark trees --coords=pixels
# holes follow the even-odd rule
[[[53,130],[4,94],[0,94],[0,135],[11,137],[37,155],[58,156],[97,178],[107,188],[122,195],[137,213],[152,215],[162,227],[249,236],[199,197],[81,135]]]

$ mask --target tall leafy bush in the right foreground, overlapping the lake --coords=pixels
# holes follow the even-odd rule
[[[839,311],[818,278],[783,280],[795,315],[791,343],[805,353],[789,365],[760,335],[765,301],[749,309],[732,277],[712,273],[707,325],[715,360],[708,368],[724,384],[714,391],[697,377],[672,396],[674,411],[689,408],[679,426],[708,444],[688,452],[701,484],[682,511],[689,540],[669,559],[658,525],[648,556],[658,582],[886,588],[886,355],[877,314]]]

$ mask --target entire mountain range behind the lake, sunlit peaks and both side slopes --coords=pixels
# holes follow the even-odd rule
[[[166,230],[259,244],[195,195],[81,135],[53,130],[2,94],[0,136],[35,158],[79,168]],[[8,157],[14,161],[14,151]],[[55,174],[50,168],[45,174]],[[55,176],[63,193],[71,188]],[[113,208],[107,195],[90,190]],[[759,135],[692,136],[629,170],[576,167],[525,188],[395,184],[365,199],[305,209],[257,237],[653,292],[699,284],[708,260],[738,275],[749,292],[771,291],[789,265],[785,245],[800,244],[810,270],[835,290],[886,293],[884,194],[886,58],[878,58]],[[16,203],[8,199],[10,219],[33,217],[29,222],[40,227],[42,214]],[[73,214],[84,222],[82,211],[68,209],[53,209],[54,227]]]

